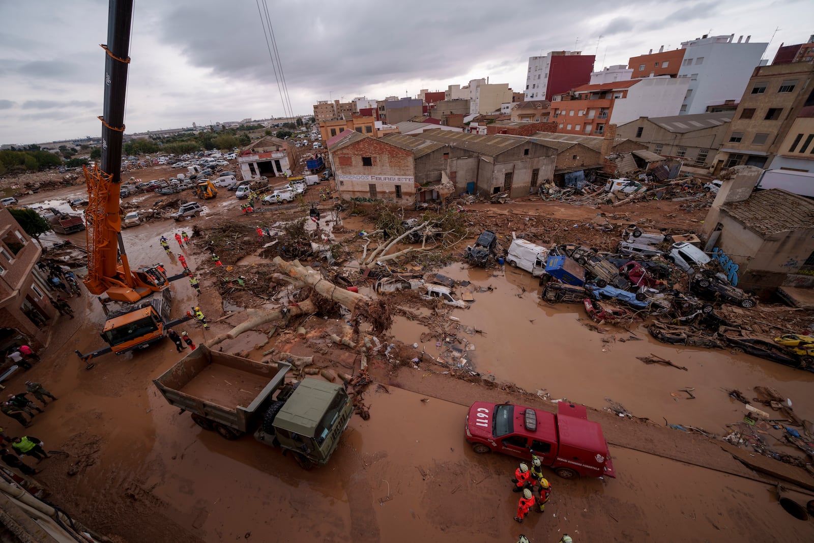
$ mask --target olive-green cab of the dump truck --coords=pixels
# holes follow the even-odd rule
[[[341,385],[305,379],[282,405],[280,395],[277,400],[255,431],[256,440],[291,450],[304,467],[309,463],[324,466],[353,414],[348,393]]]

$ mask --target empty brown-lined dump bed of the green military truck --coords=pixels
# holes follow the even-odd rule
[[[201,345],[153,383],[170,405],[249,432],[260,423],[290,369],[285,362],[274,368]]]

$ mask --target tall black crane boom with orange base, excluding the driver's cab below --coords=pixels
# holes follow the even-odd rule
[[[107,13],[107,45],[102,160],[93,169],[85,167],[88,208],[85,211],[88,241],[88,276],[85,287],[94,294],[107,293],[111,300],[133,302],[168,286],[166,277],[154,268],[130,269],[121,239],[120,185],[121,151],[125,131],[127,69],[130,62],[130,25],[133,0],[110,0]],[[119,263],[121,262],[121,263]]]

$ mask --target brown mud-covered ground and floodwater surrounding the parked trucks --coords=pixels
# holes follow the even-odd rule
[[[52,207],[81,193],[81,186],[66,187],[26,196],[21,203],[47,201]],[[128,201],[149,208],[155,199],[136,195]],[[149,221],[122,234],[134,265],[160,262],[170,276],[182,273],[177,256],[186,256],[203,292],[197,295],[186,278],[173,282],[172,317],[182,317],[195,305],[203,310],[208,329],[194,321],[177,326],[195,344],[217,341],[213,349],[255,361],[268,361],[269,352],[313,356],[315,365],[338,382],[341,374],[368,376],[370,384],[359,401],[370,418],[358,411],[352,416],[330,462],[304,471],[291,455],[251,435],[224,440],[196,425],[190,414],[179,413],[152,383],[189,353],[178,353],[168,339],[120,357],[103,355],[85,370],[74,351],[104,346],[98,331],[105,317],[96,297],[84,291],[69,300],[75,318],[59,317],[50,326],[42,362],[4,383],[7,392],[15,392],[33,379],[59,397],[37,415],[29,431],[46,440],[48,449],[70,454],[44,461],[35,476],[51,501],[114,541],[128,543],[516,541],[519,533],[543,542],[557,541],[566,532],[575,541],[814,538],[811,521],[794,519],[778,505],[776,480],[737,462],[720,439],[747,413],[729,396],[732,390],[751,399],[756,386],[775,389],[793,402],[799,418],[814,419],[814,374],[727,349],[662,344],[648,334],[646,320],[597,324],[581,304],[541,300],[540,282],[527,272],[509,265],[483,269],[460,258],[480,226],[489,223],[501,243],[535,221],[545,225],[547,233],[539,235],[549,236],[547,243],[571,239],[598,246],[602,238],[606,244],[612,238],[615,244],[618,233],[588,226],[605,210],[534,201],[464,206],[469,234],[444,251],[449,258],[433,264],[420,260],[424,253],[400,265],[405,272],[452,279],[457,296],[471,293],[469,308],[457,309],[409,291],[376,294],[374,281],[362,273],[360,240],[362,230],[374,230],[375,217],[345,210],[338,226],[330,207],[321,209],[320,228],[326,235],[333,229],[330,243],[341,247],[339,269],[361,294],[392,308],[388,331],[361,326],[361,335],[382,345],[368,353],[366,369],[356,350],[328,339],[330,334],[355,337],[348,314],[335,309],[255,326],[221,340],[247,318],[247,309],[273,310],[283,301],[289,307],[303,301],[298,289],[271,281],[275,267],[270,259],[276,255],[265,246],[274,239],[260,238],[254,229],[279,230],[285,221],[306,216],[307,208],[244,215],[234,193],[223,190],[204,202],[200,217]],[[662,226],[662,217],[671,230],[690,231],[702,216],[677,203],[642,202],[625,208],[618,221]],[[563,230],[561,223],[571,230]],[[182,231],[197,232],[189,247],[173,241]],[[162,235],[170,239],[173,254],[160,247]],[[47,245],[65,237],[42,239]],[[85,234],[68,239],[82,246]],[[416,254],[420,245],[413,245]],[[217,249],[223,267],[213,264],[208,247]],[[301,261],[326,271],[333,267],[315,257]],[[264,287],[252,290],[267,278]],[[303,333],[295,334],[300,326]],[[392,353],[387,349],[385,354],[389,344]],[[686,370],[637,359],[649,356]],[[589,419],[602,425],[610,444],[615,479],[563,480],[544,468],[553,487],[545,513],[532,511],[523,524],[515,523],[518,494],[511,492],[510,478],[517,460],[473,452],[464,436],[467,410],[474,401],[492,401],[553,411],[560,400],[589,406]],[[22,431],[18,423],[7,423],[8,432]],[[772,446],[804,458],[790,444]],[[784,485],[803,505],[814,498],[814,487]]]

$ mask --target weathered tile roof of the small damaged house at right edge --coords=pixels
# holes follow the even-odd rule
[[[721,209],[764,236],[814,228],[814,202],[782,189],[758,190],[749,199],[724,204]]]

